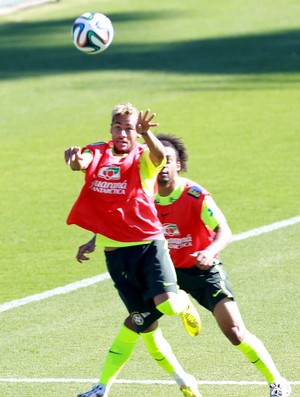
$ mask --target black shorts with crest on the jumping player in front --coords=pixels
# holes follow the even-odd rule
[[[152,241],[105,251],[109,274],[138,332],[144,331],[162,313],[153,298],[165,292],[177,292],[176,273],[167,242]]]

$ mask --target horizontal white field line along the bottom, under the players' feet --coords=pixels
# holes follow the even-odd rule
[[[0,383],[90,383],[95,384],[99,382],[99,379],[76,379],[76,378],[0,378]],[[300,381],[289,381],[291,385],[300,385]],[[130,379],[116,379],[114,383],[121,384],[139,384],[139,385],[174,385],[175,382],[172,380],[130,380]],[[200,380],[197,381],[198,385],[259,385],[265,386],[267,382],[256,382],[247,380]]]

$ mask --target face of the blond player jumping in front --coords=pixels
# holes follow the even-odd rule
[[[139,134],[137,133],[138,116],[117,115],[111,125],[111,137],[116,153],[128,153],[134,146]]]

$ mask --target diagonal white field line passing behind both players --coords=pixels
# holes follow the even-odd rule
[[[256,229],[251,229],[251,230],[248,230],[247,232],[243,232],[243,233],[234,235],[233,242],[239,241],[239,240],[244,240],[244,239],[247,239],[250,237],[259,236],[260,234],[263,234],[263,233],[269,233],[274,230],[281,229],[283,227],[295,225],[296,223],[299,223],[299,222],[300,222],[300,215],[295,216],[294,218],[271,223],[270,225],[258,227]],[[51,298],[52,296],[68,294],[69,292],[76,291],[80,288],[89,287],[90,285],[102,282],[109,278],[110,278],[110,276],[106,272],[106,273],[102,273],[98,276],[86,278],[84,280],[76,281],[75,283],[67,284],[64,287],[54,288],[49,291],[42,292],[40,294],[35,294],[35,295],[27,296],[26,298],[16,299],[11,302],[6,302],[6,303],[3,303],[2,305],[0,305],[0,312],[5,312],[7,310],[15,309],[17,307],[27,305],[28,303],[41,301],[43,299],[48,299],[48,298]]]

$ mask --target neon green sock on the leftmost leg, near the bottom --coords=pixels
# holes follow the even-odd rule
[[[119,334],[107,353],[100,377],[100,383],[107,385],[107,388],[111,386],[123,365],[131,356],[138,338],[138,333],[122,325]]]

